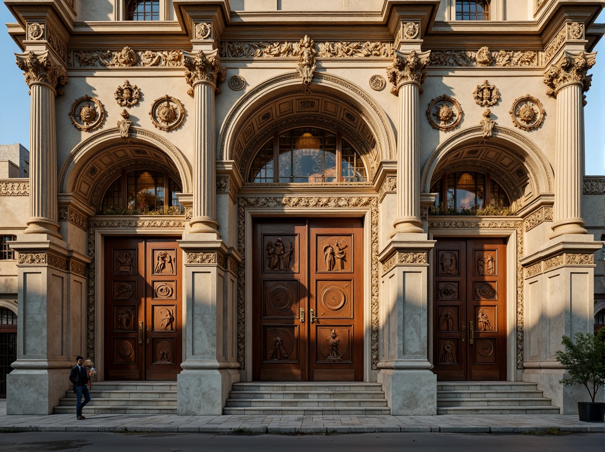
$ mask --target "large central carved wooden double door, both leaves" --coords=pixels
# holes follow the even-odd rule
[[[363,379],[361,219],[253,224],[253,378]]]

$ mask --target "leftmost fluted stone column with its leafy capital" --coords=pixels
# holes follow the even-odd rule
[[[25,234],[59,234],[57,208],[57,139],[54,97],[65,85],[64,69],[43,53],[15,54],[30,87],[30,219]]]

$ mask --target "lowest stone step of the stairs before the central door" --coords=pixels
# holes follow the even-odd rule
[[[376,416],[390,415],[391,410],[387,407],[226,407],[224,415],[275,415],[275,416]]]

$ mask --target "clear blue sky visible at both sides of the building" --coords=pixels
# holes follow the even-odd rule
[[[4,4],[0,5],[0,22],[15,22]],[[605,22],[605,10],[597,19]],[[30,97],[24,77],[15,64],[13,53],[19,48],[0,25],[0,94],[4,107],[0,108],[0,144],[21,143],[29,148]],[[597,64],[592,73],[592,88],[586,94],[584,109],[586,125],[586,174],[605,175],[605,38],[595,49]]]

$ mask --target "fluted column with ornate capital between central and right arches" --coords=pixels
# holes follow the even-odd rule
[[[420,106],[422,83],[427,76],[430,51],[407,56],[397,52],[387,69],[391,92],[399,97],[397,123],[397,219],[391,237],[424,233],[420,221]]]

